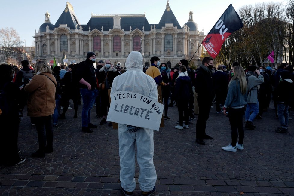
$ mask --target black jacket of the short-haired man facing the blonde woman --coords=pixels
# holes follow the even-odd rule
[[[214,90],[211,74],[202,67],[199,67],[196,71],[195,92],[198,94],[198,104],[213,101]]]

